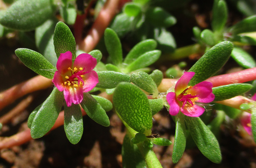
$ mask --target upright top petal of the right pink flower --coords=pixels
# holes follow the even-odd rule
[[[184,72],[184,74],[180,77],[180,79],[177,81],[175,85],[175,93],[177,95],[181,94],[186,88],[193,76],[195,75],[195,72]]]

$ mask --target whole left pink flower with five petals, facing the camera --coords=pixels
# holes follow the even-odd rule
[[[78,55],[74,63],[70,51],[60,54],[58,71],[52,81],[60,92],[63,91],[67,106],[81,103],[83,93],[91,91],[99,82],[98,74],[93,71],[96,64],[97,60],[88,53]]]

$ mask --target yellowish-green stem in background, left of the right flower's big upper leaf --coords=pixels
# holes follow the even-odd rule
[[[205,48],[202,48],[202,46],[198,43],[188,45],[185,47],[177,48],[174,53],[162,54],[160,61],[180,60],[187,58],[191,54],[204,52],[204,50]]]

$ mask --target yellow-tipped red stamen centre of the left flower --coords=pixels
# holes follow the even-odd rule
[[[73,87],[82,87],[84,85],[84,81],[82,77],[84,77],[84,74],[88,72],[84,72],[84,68],[80,67],[77,69],[76,67],[74,69],[71,69],[70,67],[68,70],[71,72],[70,76],[65,76],[66,81],[62,83],[62,85],[66,86],[73,86]]]

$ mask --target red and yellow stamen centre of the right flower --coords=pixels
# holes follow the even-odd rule
[[[189,92],[187,92],[188,89],[192,88],[191,86],[188,86],[187,89],[185,89],[178,97],[177,99],[182,102],[182,109],[184,107],[191,107],[194,106],[195,101],[198,100],[198,95],[191,95]]]

